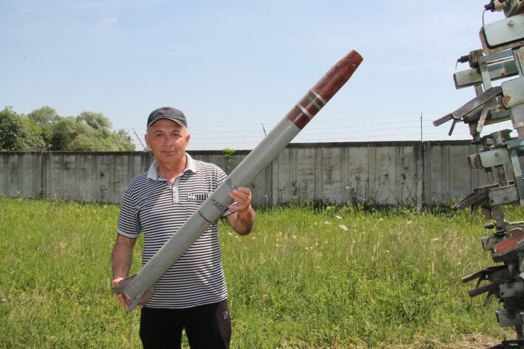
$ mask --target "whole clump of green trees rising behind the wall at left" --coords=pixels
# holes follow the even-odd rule
[[[53,108],[43,106],[26,116],[5,107],[0,111],[0,150],[135,150],[125,130],[111,128],[111,121],[100,112],[61,117]]]

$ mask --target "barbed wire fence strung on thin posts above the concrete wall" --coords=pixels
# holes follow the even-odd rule
[[[472,139],[467,125],[460,122],[452,136],[448,136],[451,122],[440,127],[433,121],[445,112],[412,112],[373,116],[348,116],[346,118],[313,119],[293,140],[293,143],[310,142],[372,142],[372,141],[433,141]],[[483,134],[500,129],[511,129],[511,122],[488,125]],[[236,125],[191,126],[190,150],[253,149],[276,123],[246,123]],[[141,150],[146,128],[125,129],[132,135]],[[135,134],[136,132],[136,134]],[[141,137],[141,139],[139,138]]]

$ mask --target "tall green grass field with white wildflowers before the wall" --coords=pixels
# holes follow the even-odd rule
[[[138,348],[111,293],[117,205],[0,198],[0,348]],[[232,348],[485,348],[513,339],[461,277],[493,266],[482,217],[449,208],[257,209],[219,227]],[[509,210],[509,220],[524,211]],[[141,241],[132,273],[140,268]],[[187,347],[187,344],[184,344]]]

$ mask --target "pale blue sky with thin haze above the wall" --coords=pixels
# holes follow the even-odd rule
[[[102,112],[142,150],[149,113],[172,106],[188,150],[253,149],[355,50],[362,64],[293,142],[471,139],[432,121],[475,97],[453,73],[483,16],[504,18],[487,3],[0,0],[0,108]]]

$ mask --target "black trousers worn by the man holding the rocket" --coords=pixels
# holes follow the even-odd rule
[[[231,317],[227,299],[187,309],[144,307],[140,314],[140,339],[144,349],[181,347],[182,329],[191,349],[227,349]]]

